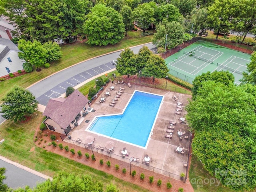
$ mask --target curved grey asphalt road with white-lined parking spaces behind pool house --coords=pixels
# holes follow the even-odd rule
[[[145,44],[153,50],[155,46],[152,43]],[[131,48],[137,54],[142,46]],[[113,52],[97,58],[92,58],[84,62],[80,62],[70,68],[66,68],[48,78],[37,82],[28,89],[36,96],[39,104],[47,105],[50,98],[57,98],[66,92],[68,86],[76,86],[83,81],[88,80],[98,74],[114,69],[112,61],[119,57],[121,51]]]

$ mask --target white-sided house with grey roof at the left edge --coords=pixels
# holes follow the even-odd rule
[[[0,38],[0,77],[23,70],[25,62],[18,57],[18,47],[8,39]]]

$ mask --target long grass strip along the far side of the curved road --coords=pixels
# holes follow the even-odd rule
[[[115,45],[90,46],[86,43],[76,42],[74,44],[67,44],[61,46],[63,57],[57,62],[52,62],[50,64],[50,68],[46,69],[42,67],[41,72],[36,72],[36,70],[34,70],[29,74],[0,82],[0,101],[2,100],[6,92],[8,92],[8,90],[14,85],[19,85],[23,88],[26,88],[31,84],[41,80],[42,78],[45,78],[78,62],[116,50],[121,50],[127,47],[132,47],[152,41],[152,35],[140,37],[141,34],[142,31],[130,31],[123,40]]]

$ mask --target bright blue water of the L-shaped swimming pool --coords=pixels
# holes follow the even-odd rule
[[[162,98],[136,91],[122,115],[97,117],[89,130],[145,147]]]

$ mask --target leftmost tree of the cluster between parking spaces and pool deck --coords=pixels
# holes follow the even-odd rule
[[[136,70],[136,56],[129,48],[124,49],[117,59],[116,70],[121,75],[134,75],[137,73]]]

